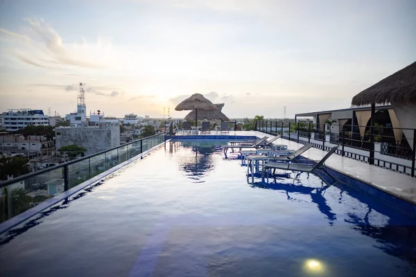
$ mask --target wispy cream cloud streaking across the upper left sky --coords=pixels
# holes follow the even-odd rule
[[[30,28],[28,36],[0,28],[19,46],[12,51],[18,60],[32,66],[57,68],[77,66],[82,68],[104,68],[111,64],[112,46],[108,39],[98,38],[96,44],[64,44],[62,37],[42,19],[24,19]],[[30,58],[29,58],[30,57]]]

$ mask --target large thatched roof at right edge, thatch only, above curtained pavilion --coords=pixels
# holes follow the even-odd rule
[[[352,98],[352,105],[416,104],[416,62],[373,84]]]

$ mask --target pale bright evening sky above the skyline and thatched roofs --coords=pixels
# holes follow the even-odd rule
[[[0,0],[0,111],[230,118],[343,109],[415,62],[416,1]]]

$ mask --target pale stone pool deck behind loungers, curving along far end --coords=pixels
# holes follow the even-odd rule
[[[187,134],[185,134],[187,135]],[[259,138],[263,136],[272,137],[272,135],[266,135],[257,131],[230,131],[229,133],[211,132],[211,134],[204,134],[211,136],[257,136]],[[297,150],[303,146],[303,144],[295,143],[294,141],[288,141],[286,139],[277,139],[273,144],[288,145],[288,149]],[[302,157],[313,161],[322,159],[326,151],[319,150],[317,148],[311,148],[302,154]],[[347,157],[341,157],[340,155],[333,154],[325,165],[333,170],[337,170],[349,177],[361,180],[370,186],[374,186],[383,190],[391,195],[395,195],[401,199],[413,203],[416,205],[416,178],[404,175],[402,173],[394,172],[385,168],[379,168],[378,166],[371,166],[368,163],[362,161],[356,161]]]

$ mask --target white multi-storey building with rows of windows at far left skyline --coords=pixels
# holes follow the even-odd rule
[[[28,125],[48,126],[49,116],[44,115],[41,109],[10,109],[3,114],[3,127],[13,132]]]

